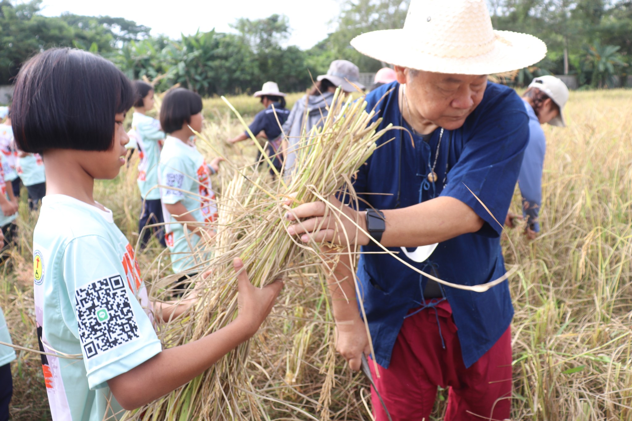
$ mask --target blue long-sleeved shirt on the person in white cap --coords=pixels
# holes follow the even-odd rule
[[[538,217],[542,206],[542,169],[547,142],[533,107],[526,101],[525,109],[529,115],[529,143],[518,175],[518,186],[522,195],[522,213],[525,221],[533,231],[540,232]]]

